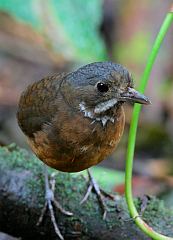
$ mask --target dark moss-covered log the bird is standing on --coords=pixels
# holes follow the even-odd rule
[[[55,209],[65,239],[149,239],[130,219],[122,197],[107,201],[109,211],[103,220],[94,194],[79,204],[87,188],[82,175],[58,172],[56,184],[56,198],[74,213],[67,217]],[[136,204],[140,208],[139,200]],[[0,148],[0,230],[24,240],[56,239],[48,214],[41,226],[36,226],[43,205],[41,162],[15,145]],[[162,201],[151,198],[143,217],[155,230],[173,236],[173,210],[166,209]]]

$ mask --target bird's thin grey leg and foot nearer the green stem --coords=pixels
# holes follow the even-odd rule
[[[106,206],[104,197],[108,197],[111,200],[115,200],[115,196],[112,195],[112,194],[106,193],[104,190],[100,189],[99,185],[97,184],[97,182],[95,181],[95,179],[91,175],[89,169],[87,169],[87,172],[88,172],[88,177],[89,177],[90,183],[89,183],[87,192],[86,192],[84,198],[82,199],[82,201],[80,203],[83,204],[88,199],[91,191],[94,190],[94,192],[96,193],[97,198],[99,200],[99,203],[101,205],[101,208],[103,210],[103,219],[105,219],[106,214],[107,214],[107,206]]]

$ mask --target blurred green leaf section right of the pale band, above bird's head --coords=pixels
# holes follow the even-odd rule
[[[52,0],[55,22],[63,27],[68,44],[81,60],[105,60],[106,49],[99,35],[100,0]],[[83,57],[85,59],[83,59]]]

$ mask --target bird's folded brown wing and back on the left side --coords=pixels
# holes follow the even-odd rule
[[[29,137],[41,130],[44,123],[50,123],[58,110],[59,87],[67,73],[44,78],[22,93],[17,119],[22,131]]]

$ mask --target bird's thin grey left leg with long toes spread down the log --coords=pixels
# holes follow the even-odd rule
[[[59,239],[64,240],[59,227],[57,225],[56,219],[55,219],[55,214],[53,210],[53,205],[58,208],[63,214],[67,216],[72,216],[73,213],[66,211],[63,209],[63,207],[60,205],[60,203],[55,199],[54,197],[54,192],[55,192],[55,174],[52,174],[50,177],[50,180],[48,178],[48,171],[47,171],[47,166],[44,164],[44,177],[45,177],[45,204],[42,209],[41,215],[38,219],[37,226],[41,224],[43,221],[43,217],[46,213],[46,210],[48,209],[50,212],[50,217],[51,217],[51,222],[54,226],[55,233],[59,237]]]

